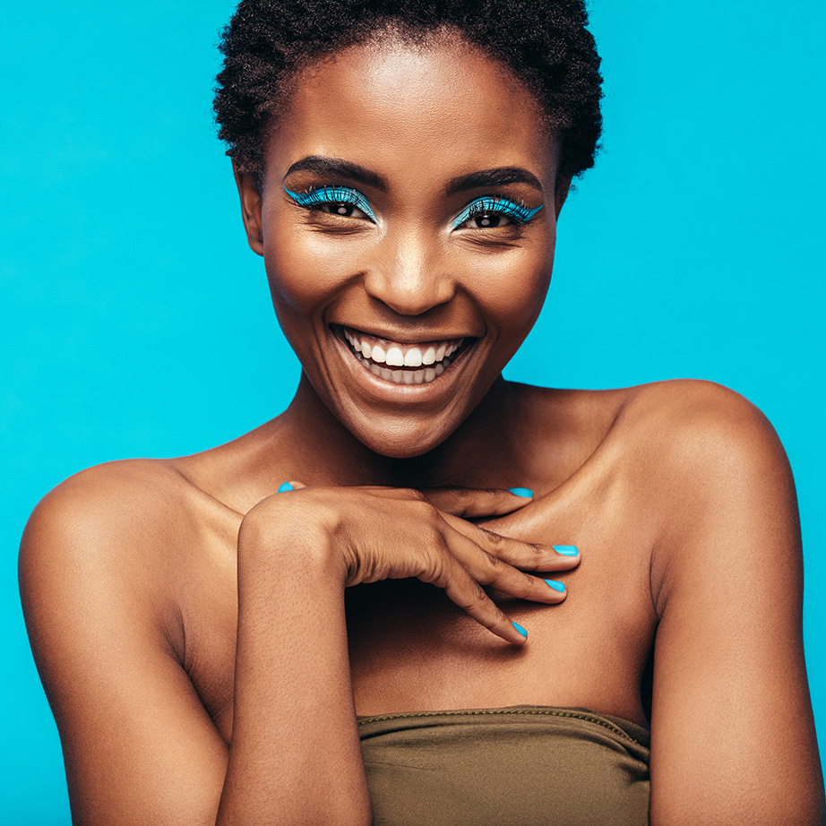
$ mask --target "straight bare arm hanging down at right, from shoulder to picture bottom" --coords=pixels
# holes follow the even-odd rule
[[[821,826],[791,471],[735,394],[681,401],[667,475],[651,471],[670,514],[652,564],[651,823]]]

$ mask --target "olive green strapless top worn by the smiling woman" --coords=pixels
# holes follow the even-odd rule
[[[374,826],[642,826],[650,733],[587,709],[359,717]]]

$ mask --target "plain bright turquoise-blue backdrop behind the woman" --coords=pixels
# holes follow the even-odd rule
[[[233,4],[15,5],[0,10],[0,823],[59,826],[60,746],[17,596],[28,513],[89,465],[257,426],[298,373],[211,124]],[[815,0],[592,4],[605,151],[507,371],[589,388],[701,377],[766,412],[800,496],[822,743],[824,22]]]

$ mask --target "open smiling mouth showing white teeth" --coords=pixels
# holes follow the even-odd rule
[[[353,355],[372,374],[395,384],[426,384],[451,366],[465,339],[404,344],[340,328]]]

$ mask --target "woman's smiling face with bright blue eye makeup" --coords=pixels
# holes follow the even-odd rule
[[[441,443],[536,321],[566,191],[540,123],[477,50],[390,39],[305,71],[260,194],[239,176],[281,327],[374,451]]]

